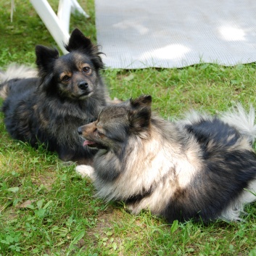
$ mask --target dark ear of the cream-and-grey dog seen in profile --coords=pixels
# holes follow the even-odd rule
[[[131,99],[130,103],[132,107],[128,113],[130,131],[146,139],[149,136],[152,97],[140,96],[137,99]]]

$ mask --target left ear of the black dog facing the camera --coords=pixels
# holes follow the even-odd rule
[[[36,46],[36,65],[41,73],[47,73],[48,70],[52,70],[53,62],[58,59],[59,51],[57,49],[51,49],[46,46]]]

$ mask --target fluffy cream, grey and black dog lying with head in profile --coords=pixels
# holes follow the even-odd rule
[[[152,97],[104,107],[78,128],[84,146],[99,149],[92,178],[97,196],[122,200],[133,214],[148,209],[173,220],[239,220],[256,199],[255,111],[241,106],[221,117],[197,112],[168,122],[154,115]]]

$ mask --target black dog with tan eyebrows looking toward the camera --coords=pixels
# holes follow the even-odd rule
[[[14,139],[39,141],[64,161],[87,162],[96,150],[82,145],[77,128],[106,105],[102,53],[78,29],[65,48],[69,53],[59,57],[57,49],[36,46],[38,75],[22,66],[0,74],[4,122]]]

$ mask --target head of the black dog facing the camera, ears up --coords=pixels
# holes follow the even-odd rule
[[[59,57],[57,49],[36,46],[36,64],[43,90],[67,99],[82,100],[94,94],[99,70],[104,68],[98,47],[80,30],[71,33],[65,46],[68,54]]]

